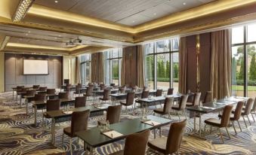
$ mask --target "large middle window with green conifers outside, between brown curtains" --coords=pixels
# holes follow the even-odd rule
[[[178,38],[144,44],[146,85],[150,89],[178,90]]]

